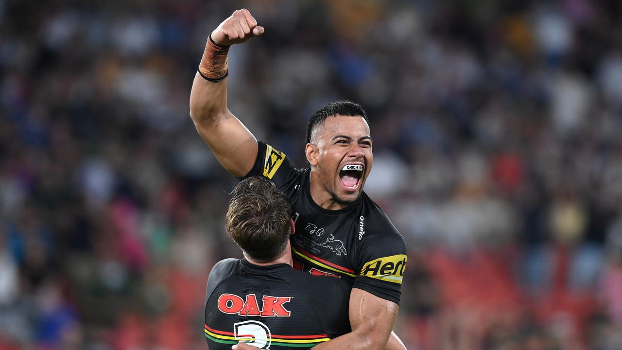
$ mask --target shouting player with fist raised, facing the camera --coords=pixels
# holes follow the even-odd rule
[[[229,173],[238,179],[262,175],[287,194],[299,232],[290,238],[294,267],[353,283],[352,332],[316,349],[405,349],[391,329],[399,310],[406,244],[363,192],[373,163],[363,108],[336,102],[313,114],[305,146],[309,169],[294,168],[284,153],[257,141],[227,108],[230,45],[263,32],[246,9],[233,12],[211,32],[192,85],[190,116]]]

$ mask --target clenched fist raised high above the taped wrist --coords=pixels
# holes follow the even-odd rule
[[[241,44],[264,33],[264,27],[247,9],[236,10],[211,33],[211,40],[220,45]]]

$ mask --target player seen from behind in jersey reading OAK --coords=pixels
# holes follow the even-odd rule
[[[350,332],[346,280],[315,277],[292,268],[294,234],[287,197],[262,176],[232,192],[226,232],[244,253],[210,272],[205,294],[205,336],[210,350],[238,341],[260,349],[309,349]]]

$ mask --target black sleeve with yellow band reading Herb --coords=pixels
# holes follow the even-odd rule
[[[359,288],[399,305],[406,269],[406,242],[388,219],[368,227],[358,254],[353,288]]]

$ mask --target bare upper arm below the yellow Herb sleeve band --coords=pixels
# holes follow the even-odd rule
[[[371,341],[370,348],[384,349],[391,335],[399,306],[368,291],[352,288],[349,310],[352,331],[368,334]]]

